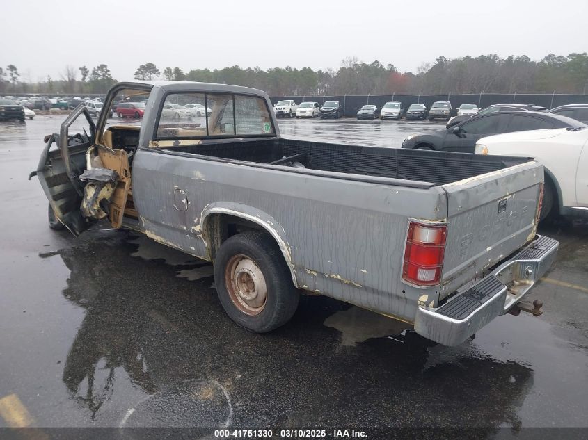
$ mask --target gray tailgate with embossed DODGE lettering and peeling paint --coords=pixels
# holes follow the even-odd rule
[[[529,161],[443,185],[447,245],[439,299],[530,242],[543,165]]]

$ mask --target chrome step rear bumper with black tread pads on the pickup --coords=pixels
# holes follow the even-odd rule
[[[436,309],[420,306],[415,332],[443,345],[459,345],[521,301],[548,270],[559,242],[537,238],[490,275]]]

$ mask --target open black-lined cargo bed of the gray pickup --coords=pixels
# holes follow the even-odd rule
[[[407,184],[408,181],[419,181],[438,185],[469,179],[530,160],[523,157],[364,147],[285,138],[225,141],[171,147],[169,150],[267,165],[292,166],[292,163],[298,162],[308,170],[402,179]]]

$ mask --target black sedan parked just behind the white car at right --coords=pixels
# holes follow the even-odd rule
[[[579,129],[586,124],[571,117],[534,111],[497,112],[470,117],[450,129],[413,134],[402,142],[402,148],[435,149],[473,153],[477,140],[498,133],[539,129]]]

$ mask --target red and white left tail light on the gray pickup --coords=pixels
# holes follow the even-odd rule
[[[435,286],[441,280],[447,225],[408,224],[402,278],[417,286]]]

